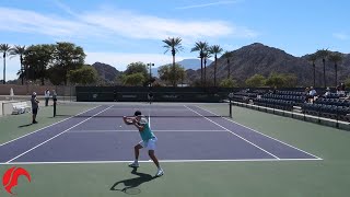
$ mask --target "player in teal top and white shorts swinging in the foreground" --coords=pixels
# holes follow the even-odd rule
[[[164,174],[164,171],[162,170],[162,167],[160,166],[160,163],[156,159],[156,157],[154,155],[154,150],[155,150],[155,142],[156,142],[156,137],[154,136],[154,134],[152,132],[148,119],[144,118],[141,114],[140,111],[135,112],[135,116],[133,117],[127,117],[124,116],[122,117],[124,123],[126,125],[135,125],[140,132],[141,139],[142,141],[140,141],[137,146],[135,146],[135,161],[132,163],[129,164],[130,167],[139,167],[139,152],[140,149],[142,148],[147,148],[149,150],[149,155],[152,159],[152,161],[154,162],[154,164],[158,167],[158,172],[155,174],[155,176],[162,176]]]

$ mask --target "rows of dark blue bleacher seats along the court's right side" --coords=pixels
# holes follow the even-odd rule
[[[327,96],[316,96],[312,103],[306,103],[305,92],[276,91],[272,93],[266,90],[249,91],[247,89],[234,93],[233,101],[350,121],[350,100],[343,96],[330,93]]]

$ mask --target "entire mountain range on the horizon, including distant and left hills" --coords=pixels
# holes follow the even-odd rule
[[[271,72],[293,73],[298,77],[298,85],[313,85],[313,67],[307,60],[310,55],[302,57],[292,56],[279,48],[266,46],[260,43],[244,46],[230,53],[231,76],[243,84],[246,79],[258,73],[268,78]],[[343,59],[338,63],[338,81],[343,82],[350,76],[350,54],[342,54]],[[170,62],[171,63],[171,62]],[[200,59],[184,59],[177,63],[186,70],[185,83],[200,80]],[[228,78],[229,70],[226,58],[220,57],[217,62],[217,83]],[[93,67],[106,81],[113,81],[120,71],[113,66],[95,62]],[[159,68],[152,68],[152,76],[158,76]],[[207,80],[213,84],[214,62],[208,60]],[[326,61],[327,86],[335,86],[335,66],[329,60]],[[316,61],[316,86],[323,86],[323,62]]]

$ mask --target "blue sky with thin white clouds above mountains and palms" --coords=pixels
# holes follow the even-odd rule
[[[71,42],[86,63],[120,71],[172,62],[168,37],[183,40],[176,61],[197,58],[190,49],[199,40],[228,51],[262,43],[296,57],[322,48],[350,54],[349,8],[347,0],[1,0],[0,44]],[[7,59],[7,80],[19,69],[19,57]]]

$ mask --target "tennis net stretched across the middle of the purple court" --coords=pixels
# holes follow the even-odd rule
[[[136,111],[150,117],[230,117],[228,103],[58,103],[56,116],[122,117]]]

